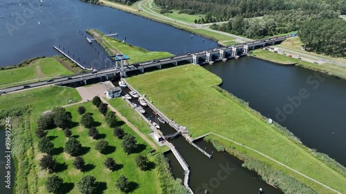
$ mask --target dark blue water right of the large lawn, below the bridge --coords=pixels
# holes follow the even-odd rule
[[[346,166],[346,80],[253,57],[204,67],[221,88]]]

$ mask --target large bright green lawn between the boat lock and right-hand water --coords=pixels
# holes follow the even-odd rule
[[[188,126],[192,137],[208,132],[217,133],[273,157],[341,193],[346,193],[346,177],[333,171],[313,157],[306,148],[291,142],[233,99],[212,88],[220,84],[221,79],[208,70],[193,65],[178,66],[129,77],[127,81],[150,97],[154,103],[159,103],[160,110],[167,117]],[[273,168],[283,168],[251,151],[245,152],[271,164]],[[308,184],[319,193],[333,193],[288,169],[284,172]]]

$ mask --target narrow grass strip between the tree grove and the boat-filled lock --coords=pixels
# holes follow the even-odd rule
[[[129,106],[129,104],[127,104],[125,100],[118,97],[109,99],[108,102],[109,104],[111,104],[111,106],[116,108],[116,110],[118,110],[118,112],[122,116],[124,116],[131,124],[136,126],[136,128],[138,128],[138,130],[140,130],[141,133],[143,133],[145,136],[148,137],[148,139],[150,139],[154,144],[156,144],[156,142],[154,142],[154,139],[152,139],[152,137],[150,137],[149,135],[149,133],[152,132],[152,130],[149,128],[147,122],[145,122],[143,117],[140,117],[140,115],[138,115],[138,112],[134,110],[134,108]],[[167,149],[168,148],[166,146],[159,147],[158,150],[156,150],[156,152],[162,153],[164,151],[167,151]]]

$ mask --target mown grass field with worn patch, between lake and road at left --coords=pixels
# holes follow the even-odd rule
[[[52,77],[73,74],[73,72],[67,70],[56,59],[36,59],[26,67],[0,70],[0,88],[44,81]]]

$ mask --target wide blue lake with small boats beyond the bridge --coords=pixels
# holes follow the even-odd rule
[[[58,53],[59,43],[80,64],[104,68],[101,55],[85,39],[84,30],[97,29],[105,34],[118,33],[118,39],[147,50],[163,50],[182,54],[215,48],[217,43],[163,23],[112,8],[84,3],[79,0],[3,0],[0,2],[0,66],[17,64],[38,56]],[[84,32],[83,35],[80,33]],[[97,44],[95,44],[97,45]],[[100,52],[100,55],[98,54]],[[85,61],[85,64],[84,64]]]

